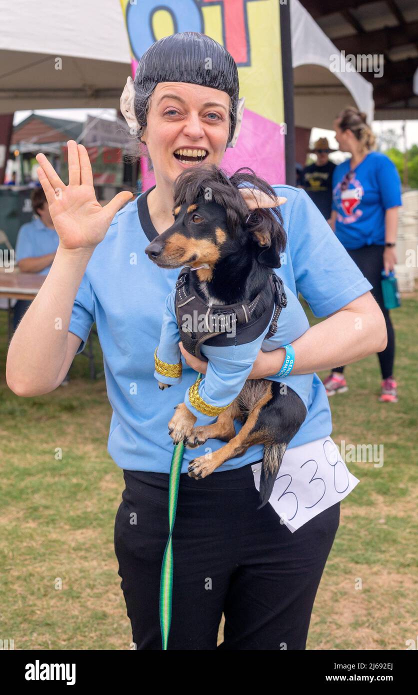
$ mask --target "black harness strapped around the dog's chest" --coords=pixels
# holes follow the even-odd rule
[[[284,306],[287,306],[287,297],[284,293],[283,282],[275,272],[271,272],[268,283],[261,292],[257,294],[252,302],[236,302],[236,304],[207,304],[198,294],[192,294],[190,287],[191,266],[185,265],[179,272],[176,281],[175,312],[177,325],[179,327],[182,343],[187,352],[191,352],[195,357],[202,359],[200,345],[207,343],[216,347],[230,345],[243,345],[250,343],[258,338],[266,330],[274,306],[274,314],[271,320],[268,333],[265,338],[271,338],[278,329],[278,318]],[[262,294],[267,294],[270,301],[262,316],[253,319],[255,311]],[[193,330],[188,325],[191,317],[199,317],[198,322],[194,322]],[[203,321],[202,316],[206,317]],[[222,318],[222,322],[220,322]],[[202,325],[203,323],[203,325]],[[220,326],[220,323],[222,325]],[[214,330],[220,327],[220,330]],[[233,341],[228,335],[225,326],[234,328]]]

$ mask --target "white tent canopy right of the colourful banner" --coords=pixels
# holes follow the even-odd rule
[[[295,125],[332,129],[335,115],[350,104],[373,120],[373,88],[357,72],[332,72],[339,51],[298,0],[291,0]],[[351,66],[348,66],[348,69]]]

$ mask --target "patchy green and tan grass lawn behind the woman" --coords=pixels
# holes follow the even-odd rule
[[[398,404],[377,400],[375,355],[348,366],[348,393],[331,399],[335,442],[383,444],[384,465],[348,464],[360,484],[341,502],[311,650],[403,650],[416,639],[417,315],[418,292],[392,311]],[[0,311],[0,637],[15,649],[129,649],[113,550],[124,482],[106,450],[104,377],[92,382],[80,355],[69,386],[19,398],[6,386],[6,350]],[[95,354],[101,370],[98,343]]]

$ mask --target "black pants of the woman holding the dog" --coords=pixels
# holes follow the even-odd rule
[[[115,518],[120,586],[138,650],[161,649],[159,588],[168,474],[124,471]],[[339,525],[339,502],[293,534],[259,493],[251,464],[180,476],[168,649],[305,649],[312,606]]]

